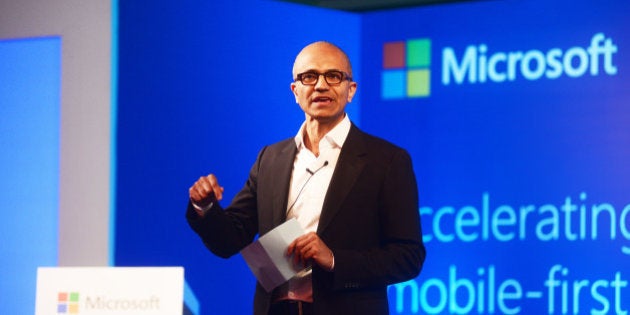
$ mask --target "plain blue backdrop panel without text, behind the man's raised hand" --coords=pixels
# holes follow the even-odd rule
[[[188,227],[188,188],[212,172],[226,205],[258,150],[295,135],[291,69],[306,44],[338,43],[360,76],[359,17],[267,0],[119,7],[115,264],[182,265],[202,314],[251,313],[255,278]]]

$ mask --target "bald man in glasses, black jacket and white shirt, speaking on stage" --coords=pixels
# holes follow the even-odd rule
[[[312,273],[273,292],[260,284],[255,314],[387,314],[387,285],[417,276],[425,258],[408,153],[354,126],[345,113],[357,83],[347,55],[306,46],[291,90],[306,120],[263,148],[225,209],[214,175],[190,188],[187,219],[216,255],[230,257],[290,218],[306,234],[287,249]]]

